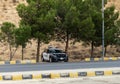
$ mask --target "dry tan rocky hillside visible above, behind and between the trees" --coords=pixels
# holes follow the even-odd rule
[[[0,0],[0,25],[5,22],[13,22],[18,26],[19,16],[16,11],[16,6],[19,3],[26,3],[26,0]],[[116,10],[120,10],[120,0],[109,0],[106,6],[115,5]],[[57,42],[50,42],[50,44],[42,45],[41,51],[46,48],[48,45],[53,45],[64,49],[64,45]],[[34,59],[36,54],[36,42],[32,41],[32,44],[28,44],[24,53],[25,59]],[[78,60],[81,57],[89,57],[90,55],[90,47],[82,46],[81,43],[77,43],[76,45],[70,45],[69,54],[71,54],[71,59]],[[101,48],[96,48],[94,54],[99,56]],[[119,53],[116,52],[115,48],[108,48],[107,56],[118,56]],[[113,52],[114,51],[114,52]],[[116,54],[115,54],[116,53]],[[21,57],[21,48],[19,48],[15,54],[14,59],[20,59]],[[8,45],[6,43],[0,43],[0,60],[8,60],[9,59],[9,50]]]

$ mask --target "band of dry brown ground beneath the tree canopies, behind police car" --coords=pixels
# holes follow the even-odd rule
[[[37,43],[36,41],[32,40],[31,44],[28,44],[27,47],[24,49],[24,59],[35,59],[36,58],[36,49]],[[54,47],[59,47],[64,50],[65,43],[60,43],[56,41],[51,41],[49,44],[42,44],[40,52],[43,52],[49,45]],[[0,44],[0,60],[9,60],[9,49],[7,44]],[[80,61],[86,57],[90,57],[91,47],[90,46],[83,46],[82,43],[70,44],[68,48],[68,55],[70,61]],[[101,57],[102,56],[102,48],[96,47],[94,48],[94,57]],[[107,57],[120,56],[120,50],[117,51],[115,46],[108,46],[107,48]],[[21,47],[18,48],[17,52],[13,60],[20,60],[21,59]]]

